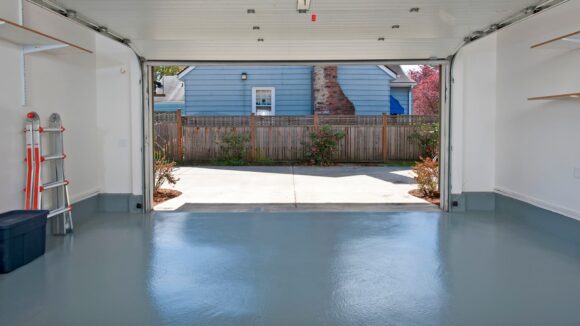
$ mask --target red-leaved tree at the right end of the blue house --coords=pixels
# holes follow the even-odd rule
[[[440,105],[439,68],[421,65],[409,72],[417,82],[413,88],[413,114],[437,115]]]

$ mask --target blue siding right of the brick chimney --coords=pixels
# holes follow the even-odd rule
[[[357,115],[389,112],[390,82],[393,77],[376,65],[338,67],[338,83],[354,104]]]

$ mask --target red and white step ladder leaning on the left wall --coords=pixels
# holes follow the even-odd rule
[[[25,209],[49,209],[54,235],[66,235],[73,230],[72,206],[68,191],[68,180],[64,174],[63,133],[60,116],[53,113],[47,128],[40,125],[36,112],[26,116],[26,188]],[[48,155],[43,154],[42,135],[48,134]],[[43,183],[43,173],[50,175],[50,182]],[[48,178],[48,177],[47,177]],[[50,190],[50,194],[45,192]]]

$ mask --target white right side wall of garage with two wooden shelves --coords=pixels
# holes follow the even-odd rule
[[[496,189],[580,218],[580,100],[528,101],[580,91],[580,51],[530,49],[580,30],[570,1],[498,34]]]

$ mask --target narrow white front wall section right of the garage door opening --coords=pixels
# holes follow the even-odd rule
[[[495,179],[497,34],[470,43],[453,64],[451,193],[491,192]]]

